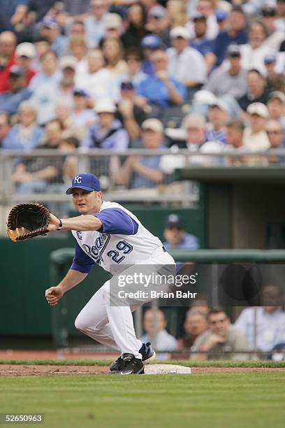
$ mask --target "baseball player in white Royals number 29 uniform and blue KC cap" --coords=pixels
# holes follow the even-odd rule
[[[94,263],[114,276],[124,265],[175,265],[159,238],[152,235],[136,215],[115,202],[103,201],[100,182],[93,174],[75,176],[66,194],[72,194],[73,204],[81,215],[62,220],[54,215],[50,217],[50,231],[71,230],[75,238],[75,257],[70,270],[56,287],[45,291],[50,306],[81,283]],[[110,305],[110,280],[79,313],[75,327],[121,352],[110,366],[111,373],[144,373],[144,362],[155,358],[150,343],[136,338],[131,307]]]

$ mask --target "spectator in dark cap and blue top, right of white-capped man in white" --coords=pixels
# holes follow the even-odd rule
[[[193,37],[191,37],[190,46],[198,50],[203,56],[208,52],[212,52],[214,41],[207,37],[207,20],[205,15],[196,13],[192,17],[193,20]]]

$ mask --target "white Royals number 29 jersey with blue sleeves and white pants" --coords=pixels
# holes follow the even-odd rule
[[[94,213],[101,231],[72,231],[75,257],[71,269],[89,273],[94,263],[116,276],[122,266],[134,264],[173,265],[173,257],[163,244],[138,220],[136,215],[115,202],[103,201]],[[142,358],[142,342],[136,338],[130,306],[110,305],[110,280],[94,294],[75,320],[75,327],[94,340],[123,354]]]

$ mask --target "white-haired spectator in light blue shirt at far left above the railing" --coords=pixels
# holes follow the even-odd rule
[[[11,128],[3,148],[25,151],[36,148],[44,132],[36,124],[36,115],[36,106],[32,101],[22,101],[18,109],[19,123]]]

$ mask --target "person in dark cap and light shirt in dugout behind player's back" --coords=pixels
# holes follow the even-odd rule
[[[197,236],[188,234],[182,217],[170,214],[163,231],[166,250],[198,250],[200,248]]]

